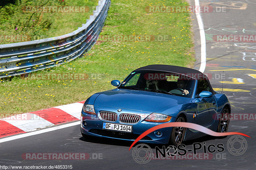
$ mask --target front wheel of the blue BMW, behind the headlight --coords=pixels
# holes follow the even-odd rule
[[[183,116],[179,116],[176,122],[185,122],[185,118]],[[185,136],[185,132],[186,128],[184,127],[173,127],[169,144],[177,147],[179,144],[182,143]]]

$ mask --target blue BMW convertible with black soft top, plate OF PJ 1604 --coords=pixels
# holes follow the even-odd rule
[[[148,65],[133,70],[115,89],[89,97],[81,114],[81,133],[134,141],[146,130],[166,122],[190,122],[216,132],[227,132],[230,103],[212,89],[198,70]],[[206,134],[183,127],[158,129],[140,142],[179,145]]]

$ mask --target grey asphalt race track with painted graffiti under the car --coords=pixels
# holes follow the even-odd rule
[[[226,6],[226,12],[201,13],[206,36],[206,69],[204,73],[212,75],[213,88],[221,91],[224,70],[223,91],[227,94],[231,111],[235,114],[253,114],[256,104],[256,46],[253,42],[216,41],[213,35],[253,35],[256,33],[256,1],[253,0],[200,0],[200,5]],[[190,5],[195,2],[191,1]],[[213,8],[214,9],[214,8]],[[200,34],[196,16],[192,15],[195,33],[196,63],[200,67]],[[255,23],[254,23],[255,22]],[[249,70],[248,70],[249,69]],[[255,118],[255,117],[254,117]],[[241,132],[251,138],[247,141],[247,150],[242,155],[233,155],[227,149],[228,139],[232,136],[215,138],[205,136],[185,142],[186,149],[192,149],[193,143],[223,144],[223,152],[212,153],[211,159],[187,160],[150,160],[139,164],[129,151],[131,142],[102,138],[84,139],[80,134],[80,125],[54,130],[39,135],[24,137],[0,143],[0,163],[5,166],[55,166],[72,165],[72,169],[256,169],[255,155],[255,119],[231,120],[229,132]],[[151,147],[162,145],[150,145]],[[27,160],[23,153],[88,153],[87,160]],[[198,153],[203,153],[203,148]],[[0,168],[1,169],[1,168]],[[3,169],[3,168],[2,168]],[[14,169],[14,168],[13,168]],[[23,168],[22,168],[23,169]]]

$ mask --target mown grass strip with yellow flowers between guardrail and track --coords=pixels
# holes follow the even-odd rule
[[[172,2],[172,3],[171,3]],[[86,80],[26,80],[0,83],[0,113],[18,114],[86,100],[113,89],[132,70],[149,64],[193,67],[194,49],[189,13],[147,13],[151,5],[188,5],[181,0],[112,0],[101,35],[168,35],[168,41],[97,42],[89,53],[70,63],[36,74],[86,73]],[[93,75],[99,75],[92,77]]]

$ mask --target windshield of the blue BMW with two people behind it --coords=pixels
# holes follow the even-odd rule
[[[140,70],[132,72],[118,88],[144,90],[191,98],[195,82],[194,78],[178,73]]]

